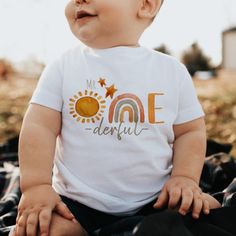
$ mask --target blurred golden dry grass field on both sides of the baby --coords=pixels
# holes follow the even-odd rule
[[[208,138],[233,144],[236,157],[236,72],[219,71],[210,80],[193,78],[206,113]],[[37,78],[11,75],[0,79],[0,143],[17,135]]]

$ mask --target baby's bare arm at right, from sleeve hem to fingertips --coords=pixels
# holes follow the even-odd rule
[[[201,195],[199,180],[206,153],[206,131],[203,118],[174,126],[173,169],[170,179],[154,205],[179,207],[181,214],[192,209],[194,218],[200,212],[209,213],[209,203]]]

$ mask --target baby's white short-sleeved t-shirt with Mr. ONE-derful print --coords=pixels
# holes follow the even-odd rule
[[[62,114],[56,191],[116,215],[157,197],[173,125],[204,115],[186,68],[144,47],[76,47],[46,67],[31,103]]]

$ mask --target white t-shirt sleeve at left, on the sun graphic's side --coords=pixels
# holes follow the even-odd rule
[[[62,74],[59,61],[50,63],[45,67],[30,103],[62,111]]]

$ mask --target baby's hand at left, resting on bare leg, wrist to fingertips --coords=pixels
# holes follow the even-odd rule
[[[15,236],[49,235],[52,211],[68,220],[74,216],[51,185],[37,185],[23,192],[16,218]]]

